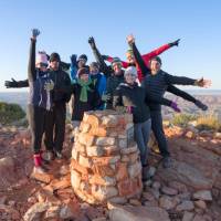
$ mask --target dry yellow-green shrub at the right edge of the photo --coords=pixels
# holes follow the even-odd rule
[[[203,115],[197,118],[197,128],[200,130],[221,131],[221,122],[213,115]]]

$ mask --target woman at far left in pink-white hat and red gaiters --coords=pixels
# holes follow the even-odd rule
[[[48,72],[48,59],[44,52],[40,52],[35,59],[38,29],[32,30],[30,57],[28,67],[29,92],[29,124],[32,135],[32,148],[34,158],[34,172],[44,172],[41,158],[41,143],[44,133],[46,113],[52,107],[52,90],[54,83]]]

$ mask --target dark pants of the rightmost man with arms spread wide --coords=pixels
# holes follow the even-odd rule
[[[151,116],[151,129],[157,139],[160,154],[162,155],[162,157],[168,157],[170,156],[170,154],[168,151],[168,145],[162,128],[161,110],[151,110],[150,116]]]

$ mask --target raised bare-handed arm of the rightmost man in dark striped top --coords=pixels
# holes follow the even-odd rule
[[[145,61],[141,57],[141,54],[139,53],[136,44],[135,44],[135,38],[130,34],[127,36],[127,42],[130,45],[135,60],[139,66],[139,69],[141,70],[141,74],[145,76],[147,74],[149,74],[150,70],[149,67],[145,64]]]

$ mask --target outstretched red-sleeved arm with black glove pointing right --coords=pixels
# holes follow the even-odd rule
[[[179,41],[180,39],[171,42],[171,43],[168,43],[168,44],[165,44],[165,45],[161,45],[160,48],[147,53],[147,54],[144,54],[143,55],[143,59],[144,61],[146,62],[146,64],[149,62],[149,60],[151,60],[152,57],[161,54],[162,52],[167,51],[168,49],[171,49],[172,46],[178,46],[179,45]]]

